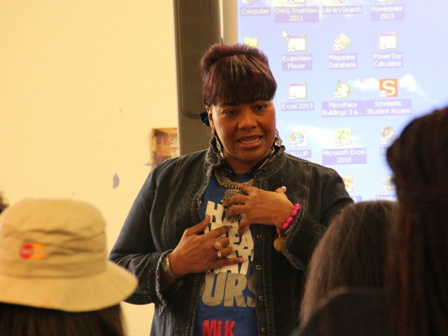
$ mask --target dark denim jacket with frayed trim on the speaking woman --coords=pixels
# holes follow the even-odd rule
[[[277,148],[275,159],[255,173],[254,186],[273,191],[286,186],[302,211],[291,222],[283,251],[273,247],[275,227],[253,225],[254,285],[260,335],[287,335],[298,325],[304,272],[331,217],[352,203],[340,175]],[[138,278],[126,300],[154,303],[151,335],[192,335],[205,273],[187,274],[161,292],[161,260],[185,229],[199,223],[202,195],[214,167],[212,150],[159,163],[149,174],[124,222],[110,259]],[[266,205],[269,206],[269,205]],[[274,210],[274,209],[273,209]]]

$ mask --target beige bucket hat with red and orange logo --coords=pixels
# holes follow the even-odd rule
[[[71,200],[23,200],[0,215],[0,302],[87,312],[118,304],[136,278],[107,260],[104,219]]]

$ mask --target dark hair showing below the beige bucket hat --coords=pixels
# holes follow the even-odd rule
[[[120,305],[92,312],[64,312],[0,303],[0,335],[123,336]]]

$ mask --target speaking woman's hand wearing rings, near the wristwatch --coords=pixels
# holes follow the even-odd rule
[[[189,273],[201,273],[210,269],[219,268],[244,262],[244,258],[226,258],[233,249],[228,246],[229,238],[219,238],[229,232],[229,226],[222,226],[211,230],[203,235],[203,232],[210,223],[210,215],[207,215],[199,224],[184,231],[182,238],[176,248],[170,253],[170,268],[177,276],[184,276]],[[218,250],[215,248],[215,241],[222,244],[221,258],[218,257]]]

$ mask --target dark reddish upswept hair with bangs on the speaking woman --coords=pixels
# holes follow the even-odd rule
[[[245,44],[215,44],[200,63],[204,105],[271,100],[277,83],[260,49]]]

